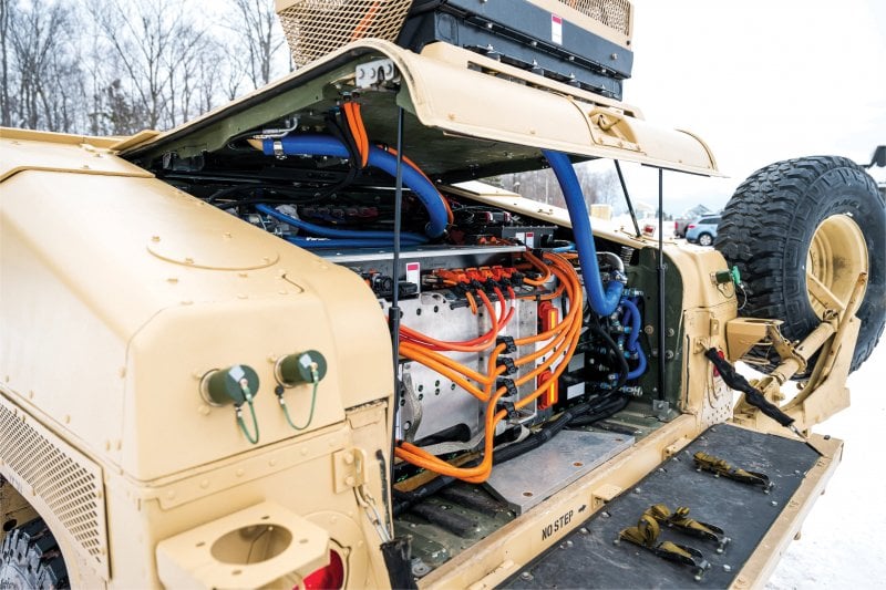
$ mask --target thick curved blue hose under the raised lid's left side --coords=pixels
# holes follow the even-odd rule
[[[344,144],[330,135],[305,134],[288,135],[276,139],[266,138],[261,142],[262,152],[269,156],[275,155],[274,146],[276,142],[279,142],[284,154],[288,156],[350,156]],[[389,154],[380,147],[375,147],[374,145],[369,146],[369,166],[380,168],[391,176],[396,176],[396,156]],[[425,226],[424,232],[431,238],[442,236],[446,230],[449,219],[446,206],[436,187],[421,172],[406,162],[403,162],[403,185],[410,188],[427,209],[431,220]],[[359,234],[359,237],[365,237],[365,232],[360,231]],[[389,241],[392,240],[393,232],[387,234],[387,239]]]

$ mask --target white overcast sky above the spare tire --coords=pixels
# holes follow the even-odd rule
[[[666,211],[721,207],[749,174],[779,159],[834,154],[867,163],[886,143],[886,2],[633,4],[625,101],[649,121],[700,135],[730,175],[667,174]],[[632,193],[655,199],[651,170],[631,179]]]

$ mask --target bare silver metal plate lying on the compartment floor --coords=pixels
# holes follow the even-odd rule
[[[633,437],[624,434],[563,431],[540,447],[496,465],[486,486],[521,515],[632,444]]]

